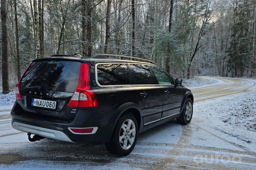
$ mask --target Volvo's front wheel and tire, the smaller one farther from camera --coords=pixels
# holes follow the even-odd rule
[[[185,102],[181,115],[177,118],[177,121],[180,124],[188,124],[192,119],[192,115],[193,115],[193,101],[190,98],[188,98]]]

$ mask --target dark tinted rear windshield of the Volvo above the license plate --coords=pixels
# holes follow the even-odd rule
[[[74,61],[35,61],[24,74],[20,86],[74,92],[78,85],[80,65],[80,62]]]

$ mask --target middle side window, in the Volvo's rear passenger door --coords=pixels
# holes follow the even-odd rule
[[[129,64],[133,84],[157,84],[147,65]]]

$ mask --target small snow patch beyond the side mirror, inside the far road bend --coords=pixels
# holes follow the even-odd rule
[[[182,81],[183,86],[187,88],[194,88],[194,87],[203,87],[221,83],[220,80],[216,79],[209,79],[203,77],[194,77],[190,79],[186,79]]]

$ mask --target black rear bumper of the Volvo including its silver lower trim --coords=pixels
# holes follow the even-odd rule
[[[114,124],[110,123],[111,112],[102,112],[99,108],[81,108],[77,111],[74,120],[53,121],[48,116],[40,113],[25,113],[23,108],[15,102],[11,111],[12,126],[22,132],[57,139],[66,142],[91,143],[108,142],[114,130]],[[96,131],[87,134],[76,134],[69,128],[95,128]]]

